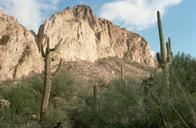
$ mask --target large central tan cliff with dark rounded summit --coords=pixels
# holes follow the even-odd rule
[[[96,18],[88,6],[66,8],[48,19],[39,29],[40,48],[46,46],[45,36],[50,38],[51,48],[61,41],[53,55],[54,60],[63,58],[65,61],[94,62],[116,56],[154,66],[154,59],[143,37],[108,20]]]

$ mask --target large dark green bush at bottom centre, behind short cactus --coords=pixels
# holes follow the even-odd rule
[[[98,95],[98,107],[93,97],[81,106],[73,120],[75,128],[126,128],[143,125],[142,89],[139,82],[129,80],[121,84],[115,80]]]

